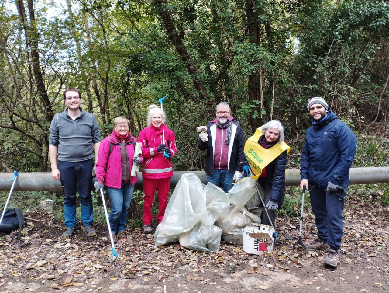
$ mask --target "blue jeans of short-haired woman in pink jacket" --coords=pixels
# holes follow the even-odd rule
[[[135,184],[131,185],[129,181],[122,183],[121,188],[108,187],[109,197],[111,198],[111,213],[108,219],[113,234],[126,229],[127,214],[134,186]]]

